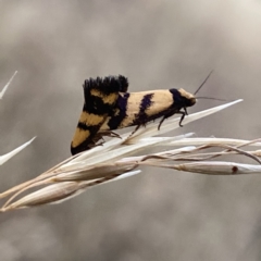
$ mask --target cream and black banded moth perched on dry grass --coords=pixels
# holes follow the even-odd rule
[[[114,129],[128,126],[138,129],[159,117],[160,128],[165,119],[182,114],[182,126],[186,108],[196,103],[195,95],[184,89],[127,92],[128,80],[122,75],[90,78],[83,87],[85,103],[71,144],[72,154],[92,148]]]

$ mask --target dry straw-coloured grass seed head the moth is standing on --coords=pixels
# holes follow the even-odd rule
[[[229,102],[206,111],[188,115],[184,124],[207,116],[241,100]],[[153,137],[178,128],[179,119],[170,119],[158,130],[158,123],[140,128],[134,135],[126,133],[122,138],[113,138],[103,146],[95,147],[71,157],[34,179],[20,184],[0,194],[9,197],[1,212],[46,203],[58,203],[75,197],[89,187],[117,181],[140,173],[140,165],[167,167],[177,171],[210,175],[236,175],[261,172],[259,159],[261,150],[244,150],[246,146],[261,147],[261,139],[240,140],[222,138],[191,138],[192,134],[176,137]],[[159,146],[178,147],[152,154],[133,156],[138,151]],[[217,152],[209,152],[219,148]],[[208,152],[206,152],[208,149]],[[219,157],[241,154],[256,164],[214,161]],[[32,191],[34,190],[34,191]],[[23,196],[22,196],[23,194]]]

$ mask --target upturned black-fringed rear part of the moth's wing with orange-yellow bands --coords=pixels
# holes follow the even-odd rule
[[[126,91],[127,86],[127,78],[121,75],[85,80],[85,103],[71,144],[72,154],[90,149],[102,138],[98,132],[112,113],[119,92]]]

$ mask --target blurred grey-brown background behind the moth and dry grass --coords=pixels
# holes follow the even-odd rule
[[[0,101],[0,154],[37,136],[0,167],[0,189],[70,157],[85,78],[194,92],[214,70],[200,96],[245,101],[172,135],[253,139],[260,67],[258,0],[0,1],[0,88],[18,71]],[[1,214],[0,260],[260,260],[260,184],[144,169],[62,204]]]

